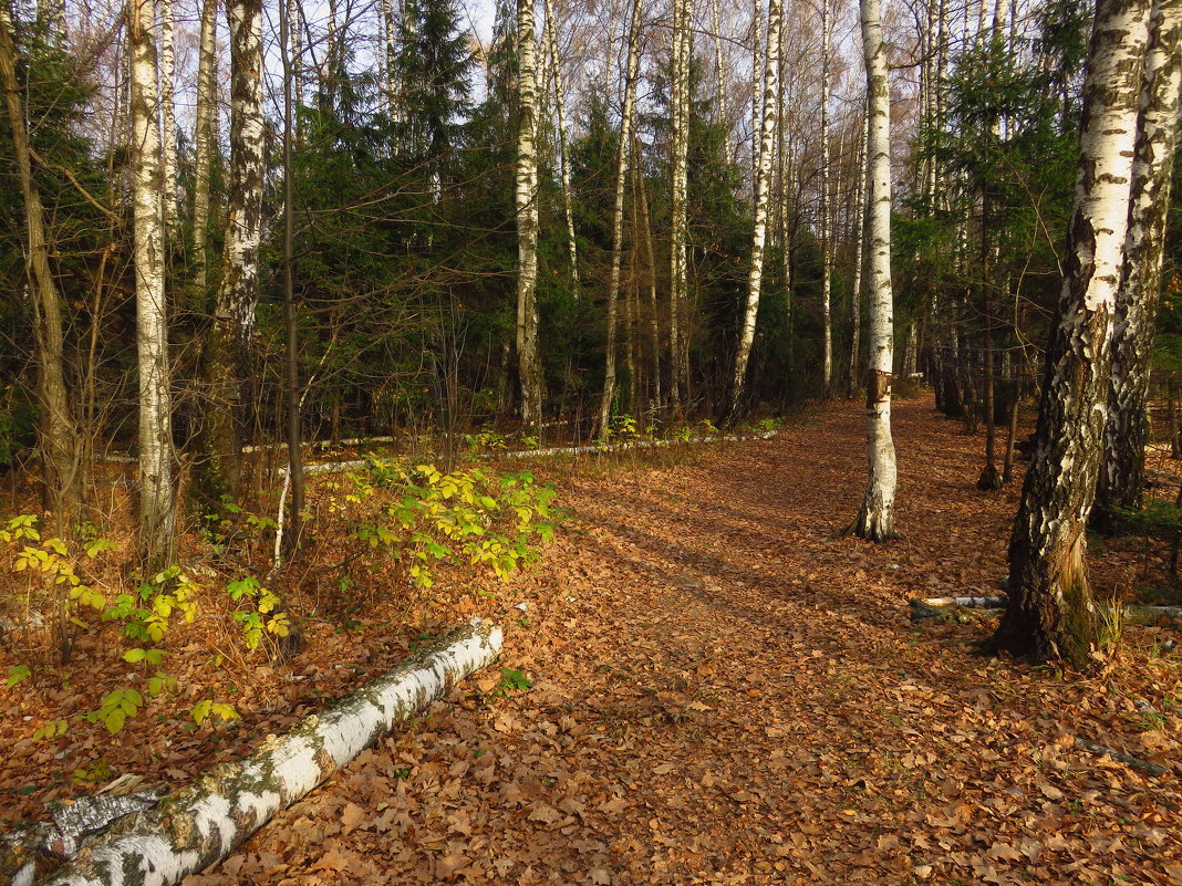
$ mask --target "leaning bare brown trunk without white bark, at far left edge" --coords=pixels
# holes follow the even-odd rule
[[[78,522],[82,500],[82,449],[78,419],[66,386],[63,357],[61,297],[50,266],[50,240],[41,194],[33,177],[24,90],[17,79],[17,45],[7,0],[0,0],[0,86],[4,87],[12,157],[20,178],[25,210],[25,273],[35,306],[38,367],[38,449],[41,454],[46,503],[57,521],[56,535],[66,538]],[[66,625],[63,625],[65,628]],[[65,641],[65,634],[63,636]]]

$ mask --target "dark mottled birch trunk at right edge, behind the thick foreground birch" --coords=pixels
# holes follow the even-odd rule
[[[1132,163],[1124,271],[1112,324],[1112,380],[1108,393],[1104,463],[1096,509],[1111,527],[1122,509],[1142,506],[1154,327],[1162,288],[1165,221],[1177,146],[1182,86],[1182,0],[1156,0],[1141,92]]]

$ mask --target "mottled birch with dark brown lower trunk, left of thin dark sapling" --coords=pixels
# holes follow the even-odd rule
[[[227,0],[230,39],[229,197],[226,247],[214,320],[206,346],[206,491],[238,493],[243,386],[259,301],[262,234],[262,2]]]

